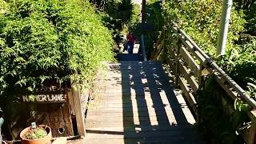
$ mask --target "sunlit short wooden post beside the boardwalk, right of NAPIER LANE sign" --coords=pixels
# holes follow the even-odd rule
[[[88,90],[89,91],[89,90]],[[87,90],[82,93],[81,90],[72,89],[73,102],[74,102],[74,114],[78,126],[78,134],[82,137],[86,136],[86,125],[85,125],[85,103],[82,102],[83,98],[88,98],[89,92]]]

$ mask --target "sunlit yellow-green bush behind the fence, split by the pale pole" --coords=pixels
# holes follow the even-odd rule
[[[206,53],[213,55],[218,39],[218,25],[222,14],[222,2],[215,0],[181,0],[166,2],[166,22],[173,20],[181,26]],[[245,20],[242,11],[231,11],[231,25],[226,49],[234,48],[234,41],[243,30]]]

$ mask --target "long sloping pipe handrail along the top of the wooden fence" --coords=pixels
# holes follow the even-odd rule
[[[230,84],[230,86],[232,86],[234,88],[234,90],[238,91],[238,94],[240,94],[240,96],[242,98],[244,98],[246,100],[246,102],[248,102],[250,104],[250,106],[253,106],[254,109],[256,109],[256,102],[253,98],[250,98],[250,95],[246,93],[245,90],[242,89],[241,86],[239,86],[236,82],[234,82],[234,80],[232,78],[230,78],[230,76],[228,76],[224,70],[222,70],[222,68],[220,68],[216,62],[214,62],[212,60],[212,58],[210,58],[202,49],[199,48],[199,46],[190,38],[190,36],[188,36],[183,30],[181,30],[178,25],[175,22],[172,22],[173,24],[173,28],[176,27],[177,31],[182,34],[184,36],[184,38],[189,41],[191,43],[192,46],[194,46],[194,50],[197,50],[200,54],[202,54],[203,58],[206,58],[206,64],[209,64],[209,66],[211,66],[214,70],[216,70],[218,72],[218,74],[220,74],[220,76],[222,78],[224,78],[226,80],[226,82],[228,82]]]

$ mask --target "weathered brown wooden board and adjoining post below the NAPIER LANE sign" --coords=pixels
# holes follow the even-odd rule
[[[60,93],[61,94],[61,93]],[[69,90],[66,102],[38,103],[20,102],[10,106],[14,113],[9,117],[10,133],[12,139],[19,139],[19,134],[31,122],[50,126],[54,137],[67,137],[74,134],[86,135],[85,113],[89,92]],[[72,122],[72,115],[74,116]],[[77,125],[77,126],[74,126]],[[74,130],[74,127],[77,127]]]

